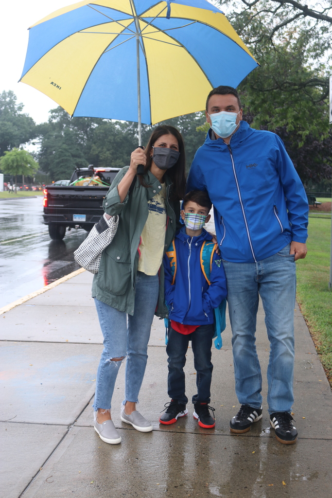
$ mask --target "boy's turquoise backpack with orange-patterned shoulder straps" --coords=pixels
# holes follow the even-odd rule
[[[202,244],[201,248],[201,268],[203,271],[203,274],[206,278],[206,281],[210,285],[210,275],[211,275],[211,269],[212,269],[212,262],[213,262],[213,256],[215,253],[215,250],[217,249],[218,244],[214,244],[212,241],[204,241]],[[172,285],[175,282],[175,275],[176,275],[176,269],[177,269],[177,259],[176,259],[176,250],[175,250],[175,244],[174,241],[171,243],[169,248],[166,251],[166,254],[168,256],[170,265],[171,265],[171,273],[173,276],[172,279]],[[222,339],[221,339],[221,332],[225,330],[226,328],[226,299],[223,299],[218,306],[218,308],[214,309],[214,315],[215,315],[215,347],[217,349],[221,349],[222,347]],[[167,337],[167,332],[168,332],[168,327],[169,327],[169,319],[165,318],[165,327],[166,327],[166,344],[168,342],[168,337]]]

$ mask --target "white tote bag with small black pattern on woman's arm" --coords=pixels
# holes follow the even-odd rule
[[[98,273],[102,252],[109,246],[116,234],[119,217],[112,216],[109,220],[105,215],[92,228],[88,237],[74,252],[75,261],[91,273]]]

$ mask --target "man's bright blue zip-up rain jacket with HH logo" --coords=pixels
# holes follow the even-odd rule
[[[241,121],[227,145],[211,131],[194,157],[187,192],[209,193],[222,259],[260,261],[291,241],[305,243],[307,195],[278,135]]]

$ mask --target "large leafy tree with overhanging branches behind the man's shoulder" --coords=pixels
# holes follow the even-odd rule
[[[244,119],[280,135],[303,182],[331,178],[332,0],[312,8],[293,0],[225,4],[261,65],[238,87]]]

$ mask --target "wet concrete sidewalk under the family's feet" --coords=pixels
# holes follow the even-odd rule
[[[281,445],[269,428],[266,368],[269,343],[259,309],[257,350],[263,372],[263,419],[243,436],[229,432],[238,410],[231,334],[213,349],[211,405],[216,428],[189,414],[158,423],[168,401],[163,321],[152,326],[139,410],[154,430],[120,421],[122,366],[112,418],[122,443],[108,445],[93,429],[92,402],[102,334],[86,271],[0,315],[1,474],[5,498],[331,498],[332,393],[305,321],[295,310],[296,445]],[[189,398],[196,392],[187,355]]]

